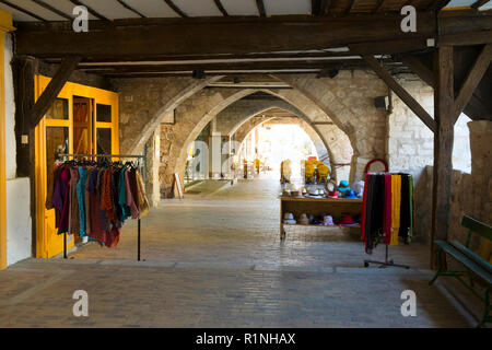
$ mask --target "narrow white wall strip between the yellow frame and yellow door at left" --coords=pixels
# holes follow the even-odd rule
[[[32,220],[30,179],[16,178],[15,102],[13,91],[12,35],[5,35],[5,165],[7,165],[7,265],[31,257]],[[32,140],[30,140],[32,141]]]

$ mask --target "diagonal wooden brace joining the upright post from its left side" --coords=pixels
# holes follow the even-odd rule
[[[376,74],[395,92],[398,97],[427,126],[429,129],[435,131],[435,121],[429,113],[413,98],[393,77],[384,69],[379,62],[370,55],[362,56],[367,65],[376,72]]]

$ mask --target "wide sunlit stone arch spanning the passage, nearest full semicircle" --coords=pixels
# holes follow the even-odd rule
[[[184,173],[188,145],[212,118],[231,104],[256,92],[276,96],[296,108],[298,115],[305,116],[306,121],[312,124],[313,129],[324,139],[325,144],[330,144],[330,148],[337,147],[340,150],[340,152],[329,154],[333,164],[344,163],[347,159],[350,162],[352,144],[349,137],[336,122],[330,122],[332,121],[330,116],[295,89],[202,89],[176,107],[176,125],[162,127],[160,168],[162,189],[169,187],[174,173]]]

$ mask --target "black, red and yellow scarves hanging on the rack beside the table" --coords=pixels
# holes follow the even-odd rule
[[[413,178],[410,174],[368,173],[365,177],[361,237],[365,252],[378,244],[409,244],[413,229]]]

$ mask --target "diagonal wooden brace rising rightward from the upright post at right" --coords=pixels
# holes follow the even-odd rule
[[[453,117],[453,124],[456,122],[459,115],[470,101],[470,97],[473,94],[477,86],[479,85],[480,81],[482,80],[483,74],[489,69],[491,60],[492,60],[492,44],[488,44],[483,47],[479,57],[477,58],[473,66],[469,70],[468,75],[465,79],[464,84],[461,85],[461,89],[459,90],[458,97],[456,98],[454,104],[455,114]]]

